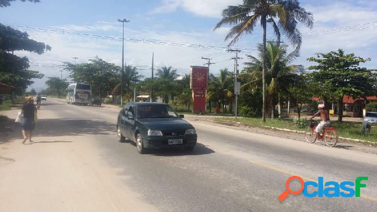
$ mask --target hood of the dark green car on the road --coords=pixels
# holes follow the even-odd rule
[[[140,123],[152,130],[178,130],[194,128],[190,123],[177,118],[139,119]]]

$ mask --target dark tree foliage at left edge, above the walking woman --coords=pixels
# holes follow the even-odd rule
[[[45,50],[51,50],[51,47],[29,39],[26,32],[0,24],[0,81],[15,86],[17,93],[23,93],[29,85],[34,83],[33,78],[40,79],[44,75],[38,71],[29,70],[29,59],[19,57],[13,52],[29,51],[43,54]]]

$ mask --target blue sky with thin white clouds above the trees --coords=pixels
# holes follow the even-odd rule
[[[59,65],[62,61],[87,62],[98,56],[121,65],[122,23],[125,23],[125,63],[134,65],[140,74],[150,77],[152,53],[154,65],[169,66],[179,74],[189,73],[190,66],[204,65],[202,57],[212,58],[211,73],[221,68],[233,70],[234,53],[226,52],[224,38],[230,26],[213,31],[221,20],[221,11],[242,0],[156,0],[156,1],[74,1],[41,0],[40,3],[16,1],[0,8],[0,23],[27,32],[31,39],[44,42],[52,51],[42,55],[16,52],[27,56],[30,69],[45,74],[34,79],[37,91],[45,88],[47,77],[68,77]],[[306,58],[339,48],[346,53],[369,57],[364,67],[377,68],[377,1],[368,0],[302,0],[301,6],[314,15],[313,29],[299,25],[303,33],[301,56],[293,64],[313,65]],[[90,35],[90,36],[89,36]],[[102,36],[102,37],[99,37]],[[107,38],[105,36],[108,36]],[[110,38],[109,38],[110,37]],[[276,39],[267,29],[267,40]],[[153,41],[153,43],[151,42]],[[240,70],[246,55],[257,56],[256,45],[262,41],[260,26],[243,36],[231,48],[241,49]],[[282,37],[286,45],[290,45]],[[182,45],[184,44],[184,45]],[[29,87],[29,90],[31,87]]]

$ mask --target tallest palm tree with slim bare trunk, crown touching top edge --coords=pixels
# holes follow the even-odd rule
[[[234,25],[225,40],[232,39],[229,43],[233,45],[244,34],[251,34],[255,25],[260,21],[263,28],[263,52],[266,51],[266,25],[271,24],[277,40],[280,41],[280,32],[300,50],[301,33],[297,29],[298,22],[306,27],[313,27],[313,15],[300,7],[297,0],[244,0],[242,5],[228,6],[222,12],[223,19],[216,25],[214,30],[223,25]],[[266,63],[262,59],[262,81],[263,81],[263,109],[262,120],[265,122],[265,69]]]

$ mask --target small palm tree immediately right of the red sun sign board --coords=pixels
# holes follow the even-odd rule
[[[230,91],[232,86],[232,73],[227,68],[220,69],[218,77],[213,74],[210,75],[206,100],[216,100],[221,104],[220,106],[223,107],[224,112],[226,112],[227,100],[233,95]]]

